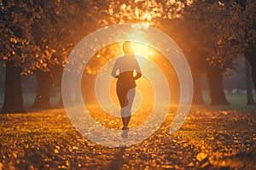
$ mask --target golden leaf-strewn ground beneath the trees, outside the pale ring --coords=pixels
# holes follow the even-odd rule
[[[119,119],[91,111],[96,122],[120,128]],[[175,109],[150,138],[108,148],[84,138],[64,110],[0,115],[0,169],[256,169],[256,108],[193,107],[170,134]],[[132,116],[136,127],[148,111]],[[146,130],[146,129],[145,129]]]

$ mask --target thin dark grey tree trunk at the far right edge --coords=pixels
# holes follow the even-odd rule
[[[245,59],[246,65],[246,83],[247,83],[247,105],[254,105],[253,100],[253,83],[252,83],[252,73],[251,73],[251,65],[247,59]]]

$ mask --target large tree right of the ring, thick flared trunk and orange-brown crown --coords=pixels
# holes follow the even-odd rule
[[[247,28],[252,22],[251,17],[248,17],[252,11],[245,10],[244,4],[243,1],[193,1],[183,10],[183,20],[191,23],[190,30],[201,34],[203,43],[196,46],[201,50],[198,54],[204,55],[198,61],[207,62],[212,105],[228,104],[224,96],[222,74],[234,69],[234,60],[238,54],[244,53],[250,41],[247,35],[253,35],[252,30]],[[194,41],[197,40],[194,38]]]

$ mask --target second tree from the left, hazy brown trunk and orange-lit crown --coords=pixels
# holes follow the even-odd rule
[[[57,1],[43,4],[44,12],[33,29],[34,37],[41,47],[44,48],[47,44],[47,46],[55,48],[55,54],[47,62],[47,71],[35,72],[38,79],[38,91],[34,108],[50,108],[49,90],[52,83],[54,79],[57,79],[61,85],[61,72],[73,46],[84,35],[98,27],[96,19],[101,13],[98,13],[96,8],[101,5],[99,2],[94,3],[88,0],[62,1],[62,3]],[[59,8],[54,10],[52,7],[55,6]],[[91,16],[95,16],[94,20]]]

